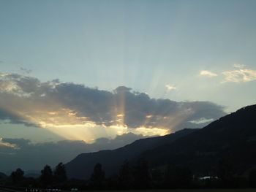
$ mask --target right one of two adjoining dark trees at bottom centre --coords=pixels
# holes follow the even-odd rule
[[[148,172],[148,164],[144,158],[140,158],[134,167],[135,188],[150,188],[151,178]]]

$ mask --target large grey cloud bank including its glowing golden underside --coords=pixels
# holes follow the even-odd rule
[[[20,74],[0,77],[0,120],[48,128],[67,139],[89,142],[106,133],[114,137],[127,132],[163,135],[198,127],[191,120],[223,115],[223,107],[211,102],[151,99],[124,86],[103,91]]]

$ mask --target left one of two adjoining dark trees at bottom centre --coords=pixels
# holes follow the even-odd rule
[[[118,184],[121,188],[132,188],[133,176],[132,170],[129,168],[129,162],[124,161],[119,170]]]

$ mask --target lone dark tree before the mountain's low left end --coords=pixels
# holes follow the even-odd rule
[[[105,172],[102,170],[102,164],[94,166],[94,172],[91,174],[91,188],[102,188],[105,180]]]

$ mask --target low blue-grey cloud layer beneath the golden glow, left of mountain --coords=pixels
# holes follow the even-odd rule
[[[114,139],[99,138],[93,144],[83,141],[63,140],[59,142],[32,143],[29,139],[0,139],[1,171],[42,169],[45,164],[56,166],[59,162],[67,163],[80,153],[98,150],[113,150],[123,147],[142,135],[123,134]]]

